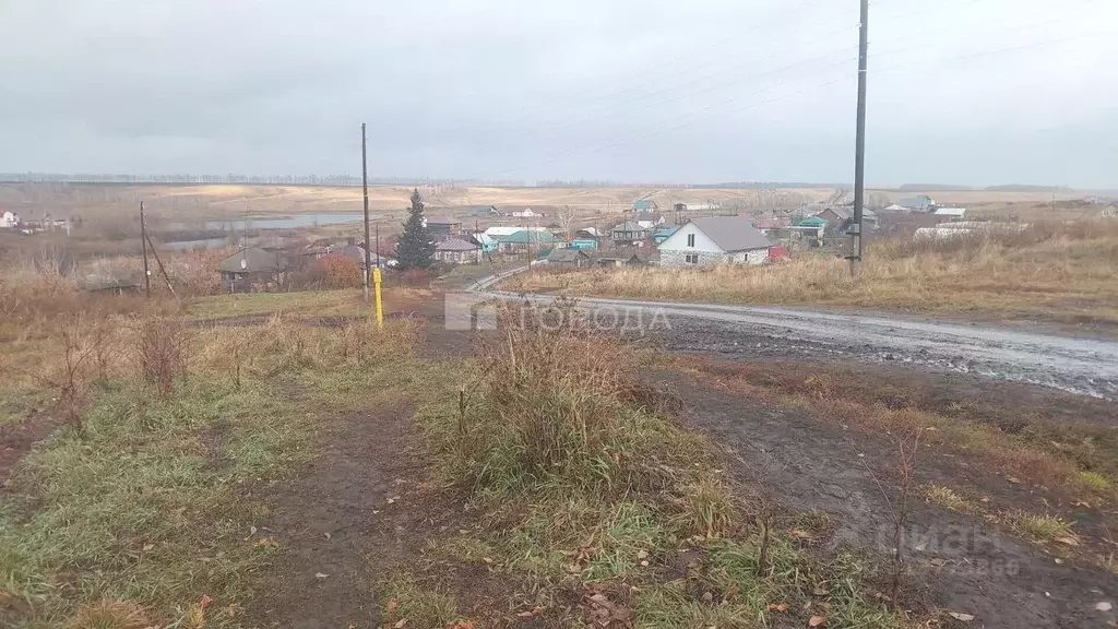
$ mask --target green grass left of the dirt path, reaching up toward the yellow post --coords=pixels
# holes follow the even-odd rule
[[[239,626],[225,609],[245,607],[254,572],[283,551],[253,534],[266,505],[247,496],[315,456],[322,419],[391,403],[435,372],[406,322],[348,332],[283,319],[196,330],[165,397],[98,383],[83,429],[32,451],[0,501],[0,602],[17,601],[0,625]]]

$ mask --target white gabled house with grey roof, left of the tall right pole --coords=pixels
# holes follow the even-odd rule
[[[692,218],[657,247],[662,266],[762,264],[769,242],[740,216]]]

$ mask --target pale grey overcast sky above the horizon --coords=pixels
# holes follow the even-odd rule
[[[870,184],[1118,188],[1118,2],[874,0]],[[1108,31],[1109,32],[1106,32]],[[850,181],[858,0],[0,0],[0,171]]]

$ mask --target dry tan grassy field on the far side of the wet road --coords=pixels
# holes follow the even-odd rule
[[[802,253],[756,267],[538,271],[503,288],[1110,325],[1118,323],[1116,269],[1118,222],[1111,220],[1036,224],[1005,237],[872,243],[856,279],[845,260]]]

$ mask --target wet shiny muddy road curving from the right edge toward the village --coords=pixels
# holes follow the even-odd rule
[[[480,294],[549,303],[552,295]],[[580,298],[601,327],[675,351],[908,364],[1118,398],[1118,340],[1076,338],[898,314]]]

